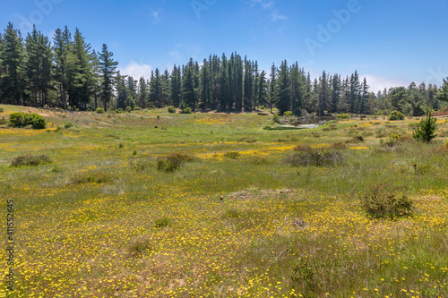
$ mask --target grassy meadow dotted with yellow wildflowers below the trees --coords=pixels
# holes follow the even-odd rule
[[[47,129],[0,125],[0,297],[448,297],[445,119],[425,144],[417,118],[29,110]],[[375,185],[412,212],[367,214]]]

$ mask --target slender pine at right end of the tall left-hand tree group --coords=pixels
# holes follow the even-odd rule
[[[108,51],[108,46],[103,44],[102,52],[99,55],[99,65],[101,71],[101,100],[104,104],[104,110],[107,111],[108,103],[112,100],[116,65],[118,64],[112,59],[114,54]]]

